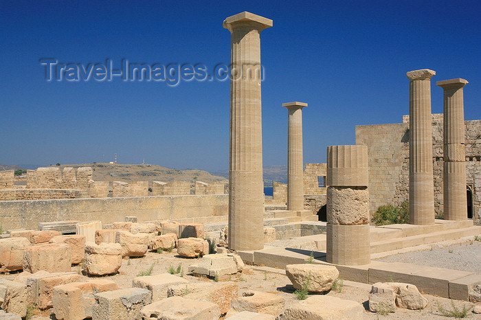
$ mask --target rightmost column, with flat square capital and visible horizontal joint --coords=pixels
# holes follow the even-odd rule
[[[444,218],[467,220],[465,106],[463,87],[465,79],[436,82],[444,89]]]

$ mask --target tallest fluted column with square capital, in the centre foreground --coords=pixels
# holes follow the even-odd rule
[[[264,247],[260,32],[272,20],[241,12],[225,19],[231,32],[229,249]]]

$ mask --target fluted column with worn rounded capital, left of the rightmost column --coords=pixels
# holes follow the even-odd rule
[[[431,78],[429,69],[406,73],[410,80],[409,209],[412,225],[434,225]]]

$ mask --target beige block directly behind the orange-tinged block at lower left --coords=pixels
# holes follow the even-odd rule
[[[29,302],[45,310],[52,308],[54,287],[70,282],[80,282],[84,277],[74,272],[66,273],[34,273],[27,277],[27,293]]]

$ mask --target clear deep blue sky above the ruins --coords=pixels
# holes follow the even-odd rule
[[[287,163],[284,102],[304,113],[304,162],[355,144],[355,125],[401,122],[414,69],[465,78],[466,119],[481,119],[480,1],[5,1],[0,34],[0,163],[113,161],[227,170],[229,82],[45,80],[41,58],[230,63],[227,16],[262,31],[264,165]]]

